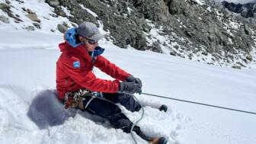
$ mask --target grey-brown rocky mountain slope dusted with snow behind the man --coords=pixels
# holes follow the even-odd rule
[[[203,0],[45,2],[54,8],[54,17],[69,18],[74,26],[82,21],[103,24],[109,32],[107,39],[122,48],[132,46],[238,69],[256,62],[256,26],[234,18],[226,8]],[[8,11],[8,1],[0,8]]]

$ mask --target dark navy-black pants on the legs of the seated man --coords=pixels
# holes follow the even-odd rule
[[[104,98],[86,96],[83,101],[85,110],[109,120],[114,128],[130,133],[133,123],[116,104],[120,103],[130,111],[138,111],[142,106],[129,94],[104,93],[103,96]]]

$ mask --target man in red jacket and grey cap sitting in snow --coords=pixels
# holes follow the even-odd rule
[[[142,82],[101,56],[104,49],[98,46],[98,40],[103,37],[91,22],[66,31],[65,42],[59,44],[62,54],[56,62],[56,88],[66,108],[71,106],[96,114],[114,128],[130,133],[133,123],[116,103],[130,111],[140,110],[142,106],[131,94],[142,92]],[[92,72],[94,66],[115,80],[96,78]],[[134,126],[133,131],[148,142],[164,143],[162,138],[145,136],[139,126]]]

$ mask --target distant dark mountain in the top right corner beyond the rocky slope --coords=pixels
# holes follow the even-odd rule
[[[229,11],[241,14],[242,17],[256,18],[256,2],[251,2],[248,4],[242,5],[242,4],[235,4],[232,2],[223,1],[222,5],[225,8],[228,8]]]

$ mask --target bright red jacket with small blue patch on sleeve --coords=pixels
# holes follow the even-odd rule
[[[66,92],[77,91],[80,88],[115,93],[119,91],[120,80],[124,81],[130,75],[103,56],[97,56],[93,60],[85,45],[74,48],[65,42],[59,44],[59,49],[62,54],[56,62],[56,88],[61,99],[65,97]],[[116,80],[96,78],[92,72],[94,66]]]

